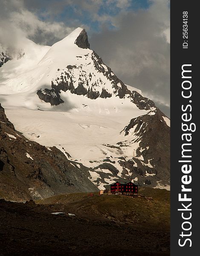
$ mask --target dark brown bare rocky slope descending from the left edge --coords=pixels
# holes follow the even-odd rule
[[[67,152],[66,152],[67,155]],[[79,168],[80,167],[80,168]],[[88,168],[14,130],[0,106],[0,197],[12,201],[98,190]]]

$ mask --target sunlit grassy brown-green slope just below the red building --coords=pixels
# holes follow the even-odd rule
[[[57,195],[37,201],[51,211],[74,213],[81,218],[108,220],[146,229],[170,228],[170,192],[165,189],[141,188],[139,194],[153,197],[130,198],[122,195],[87,193]]]

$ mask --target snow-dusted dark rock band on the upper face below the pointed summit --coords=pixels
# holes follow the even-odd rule
[[[80,58],[80,56],[77,56]],[[117,78],[110,67],[106,66],[102,59],[93,52],[91,56],[84,55],[86,64],[68,65],[64,70],[60,71],[60,76],[52,81],[52,89],[38,90],[38,97],[49,102],[51,105],[59,105],[64,101],[60,97],[61,90],[66,92],[70,90],[71,93],[77,95],[86,95],[89,99],[110,98],[112,96],[119,96],[120,99],[129,97],[130,101],[136,104],[139,109],[150,110],[155,107],[154,102],[143,97],[136,91],[130,91],[126,85]],[[90,62],[89,62],[90,61]],[[88,73],[88,67],[90,72]],[[79,75],[77,76],[77,71]],[[96,72],[102,73],[105,81],[112,84],[112,91],[110,93],[106,89],[106,82],[102,81],[96,76]],[[75,84],[78,86],[75,87]]]

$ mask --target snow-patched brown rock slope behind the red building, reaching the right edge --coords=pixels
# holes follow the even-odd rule
[[[97,178],[95,184],[107,180],[120,182],[132,181],[139,186],[169,188],[170,186],[170,127],[166,124],[167,117],[158,108],[149,111],[143,116],[130,120],[130,123],[121,131],[125,140],[116,145],[104,145],[118,154],[122,154],[123,147],[133,148],[133,157],[106,157],[103,163],[93,168]],[[126,137],[131,136],[131,141]],[[135,148],[135,149],[134,149]],[[119,164],[121,168],[116,168]],[[116,178],[117,177],[117,178]]]

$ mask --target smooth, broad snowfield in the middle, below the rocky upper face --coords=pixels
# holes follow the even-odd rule
[[[68,92],[69,93],[69,92]],[[82,96],[71,95],[75,102]],[[75,99],[77,98],[77,99]],[[54,111],[39,111],[27,108],[5,107],[6,115],[14,124],[16,130],[21,131],[29,140],[34,140],[47,147],[56,146],[71,160],[78,160],[87,167],[96,166],[91,161],[102,161],[105,157],[133,157],[135,147],[124,147],[120,151],[106,145],[116,145],[132,136],[124,137],[120,132],[128,125],[132,117],[140,116],[148,111],[133,108],[133,103],[124,111],[112,106],[112,99],[97,99],[107,105],[105,109],[98,108],[94,100],[85,97],[88,109],[81,106],[67,112],[61,112],[61,107],[53,107]],[[107,101],[110,100],[110,106]],[[125,102],[118,99],[118,104]],[[128,105],[128,104],[127,104]],[[99,104],[100,106],[100,104]],[[117,100],[115,99],[115,106]],[[132,108],[131,108],[132,107]],[[56,111],[58,108],[58,111]],[[90,108],[90,109],[89,109]],[[107,111],[109,110],[109,114]],[[128,144],[128,141],[126,142]],[[119,145],[116,145],[119,147]],[[63,149],[64,148],[64,149]],[[121,166],[120,166],[121,167]]]

